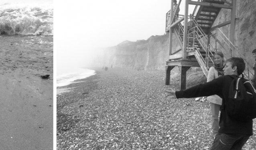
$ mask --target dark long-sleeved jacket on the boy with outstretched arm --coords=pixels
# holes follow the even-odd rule
[[[218,95],[222,98],[222,105],[228,101],[228,91],[232,77],[223,75],[210,82],[199,84],[189,89],[176,91],[177,98],[192,98],[210,95]],[[221,109],[219,118],[219,133],[226,134],[246,134],[252,136],[252,120],[249,122],[239,122],[230,118],[226,113],[226,109]]]

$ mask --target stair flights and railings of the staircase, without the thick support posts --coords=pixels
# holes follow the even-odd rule
[[[224,4],[221,0],[198,0],[202,2],[209,2],[215,4]],[[230,57],[242,57],[246,62],[246,70],[244,71],[245,77],[248,79],[250,76],[253,76],[253,67],[250,65],[242,54],[234,47],[234,45],[228,40],[228,38],[216,28],[211,30],[217,15],[219,14],[221,8],[212,8],[208,6],[197,6],[194,9],[193,14],[196,13],[194,17],[193,14],[190,14],[190,23],[188,26],[187,32],[187,59],[188,60],[197,60],[200,67],[203,70],[203,73],[207,77],[209,68],[213,66],[213,55],[216,51],[226,51],[225,59]],[[175,16],[176,17],[176,16]],[[176,18],[178,20],[178,18]],[[175,26],[173,32],[179,42],[181,49],[183,49],[183,36],[184,36],[184,26],[182,23],[179,23]],[[213,33],[215,32],[215,33]],[[208,36],[209,35],[209,36]],[[217,35],[221,39],[217,38]],[[208,39],[209,38],[209,39]],[[207,45],[207,41],[211,41]],[[231,45],[231,46],[230,46]],[[233,46],[232,46],[233,45]],[[181,53],[181,49],[173,53]],[[235,55],[234,55],[235,54]],[[179,60],[181,57],[171,57],[169,61]]]

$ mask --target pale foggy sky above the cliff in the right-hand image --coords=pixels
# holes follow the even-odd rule
[[[180,14],[184,14],[183,3]],[[57,72],[84,66],[95,47],[165,34],[165,17],[171,8],[171,0],[55,0],[54,4]]]

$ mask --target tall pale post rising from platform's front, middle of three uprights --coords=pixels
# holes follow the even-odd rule
[[[187,25],[188,25],[188,14],[189,14],[189,0],[185,0],[185,13],[184,13],[184,35],[183,35],[183,51],[182,59],[187,59]]]

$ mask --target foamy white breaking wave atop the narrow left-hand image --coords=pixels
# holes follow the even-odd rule
[[[53,35],[53,4],[0,3],[0,34]]]

